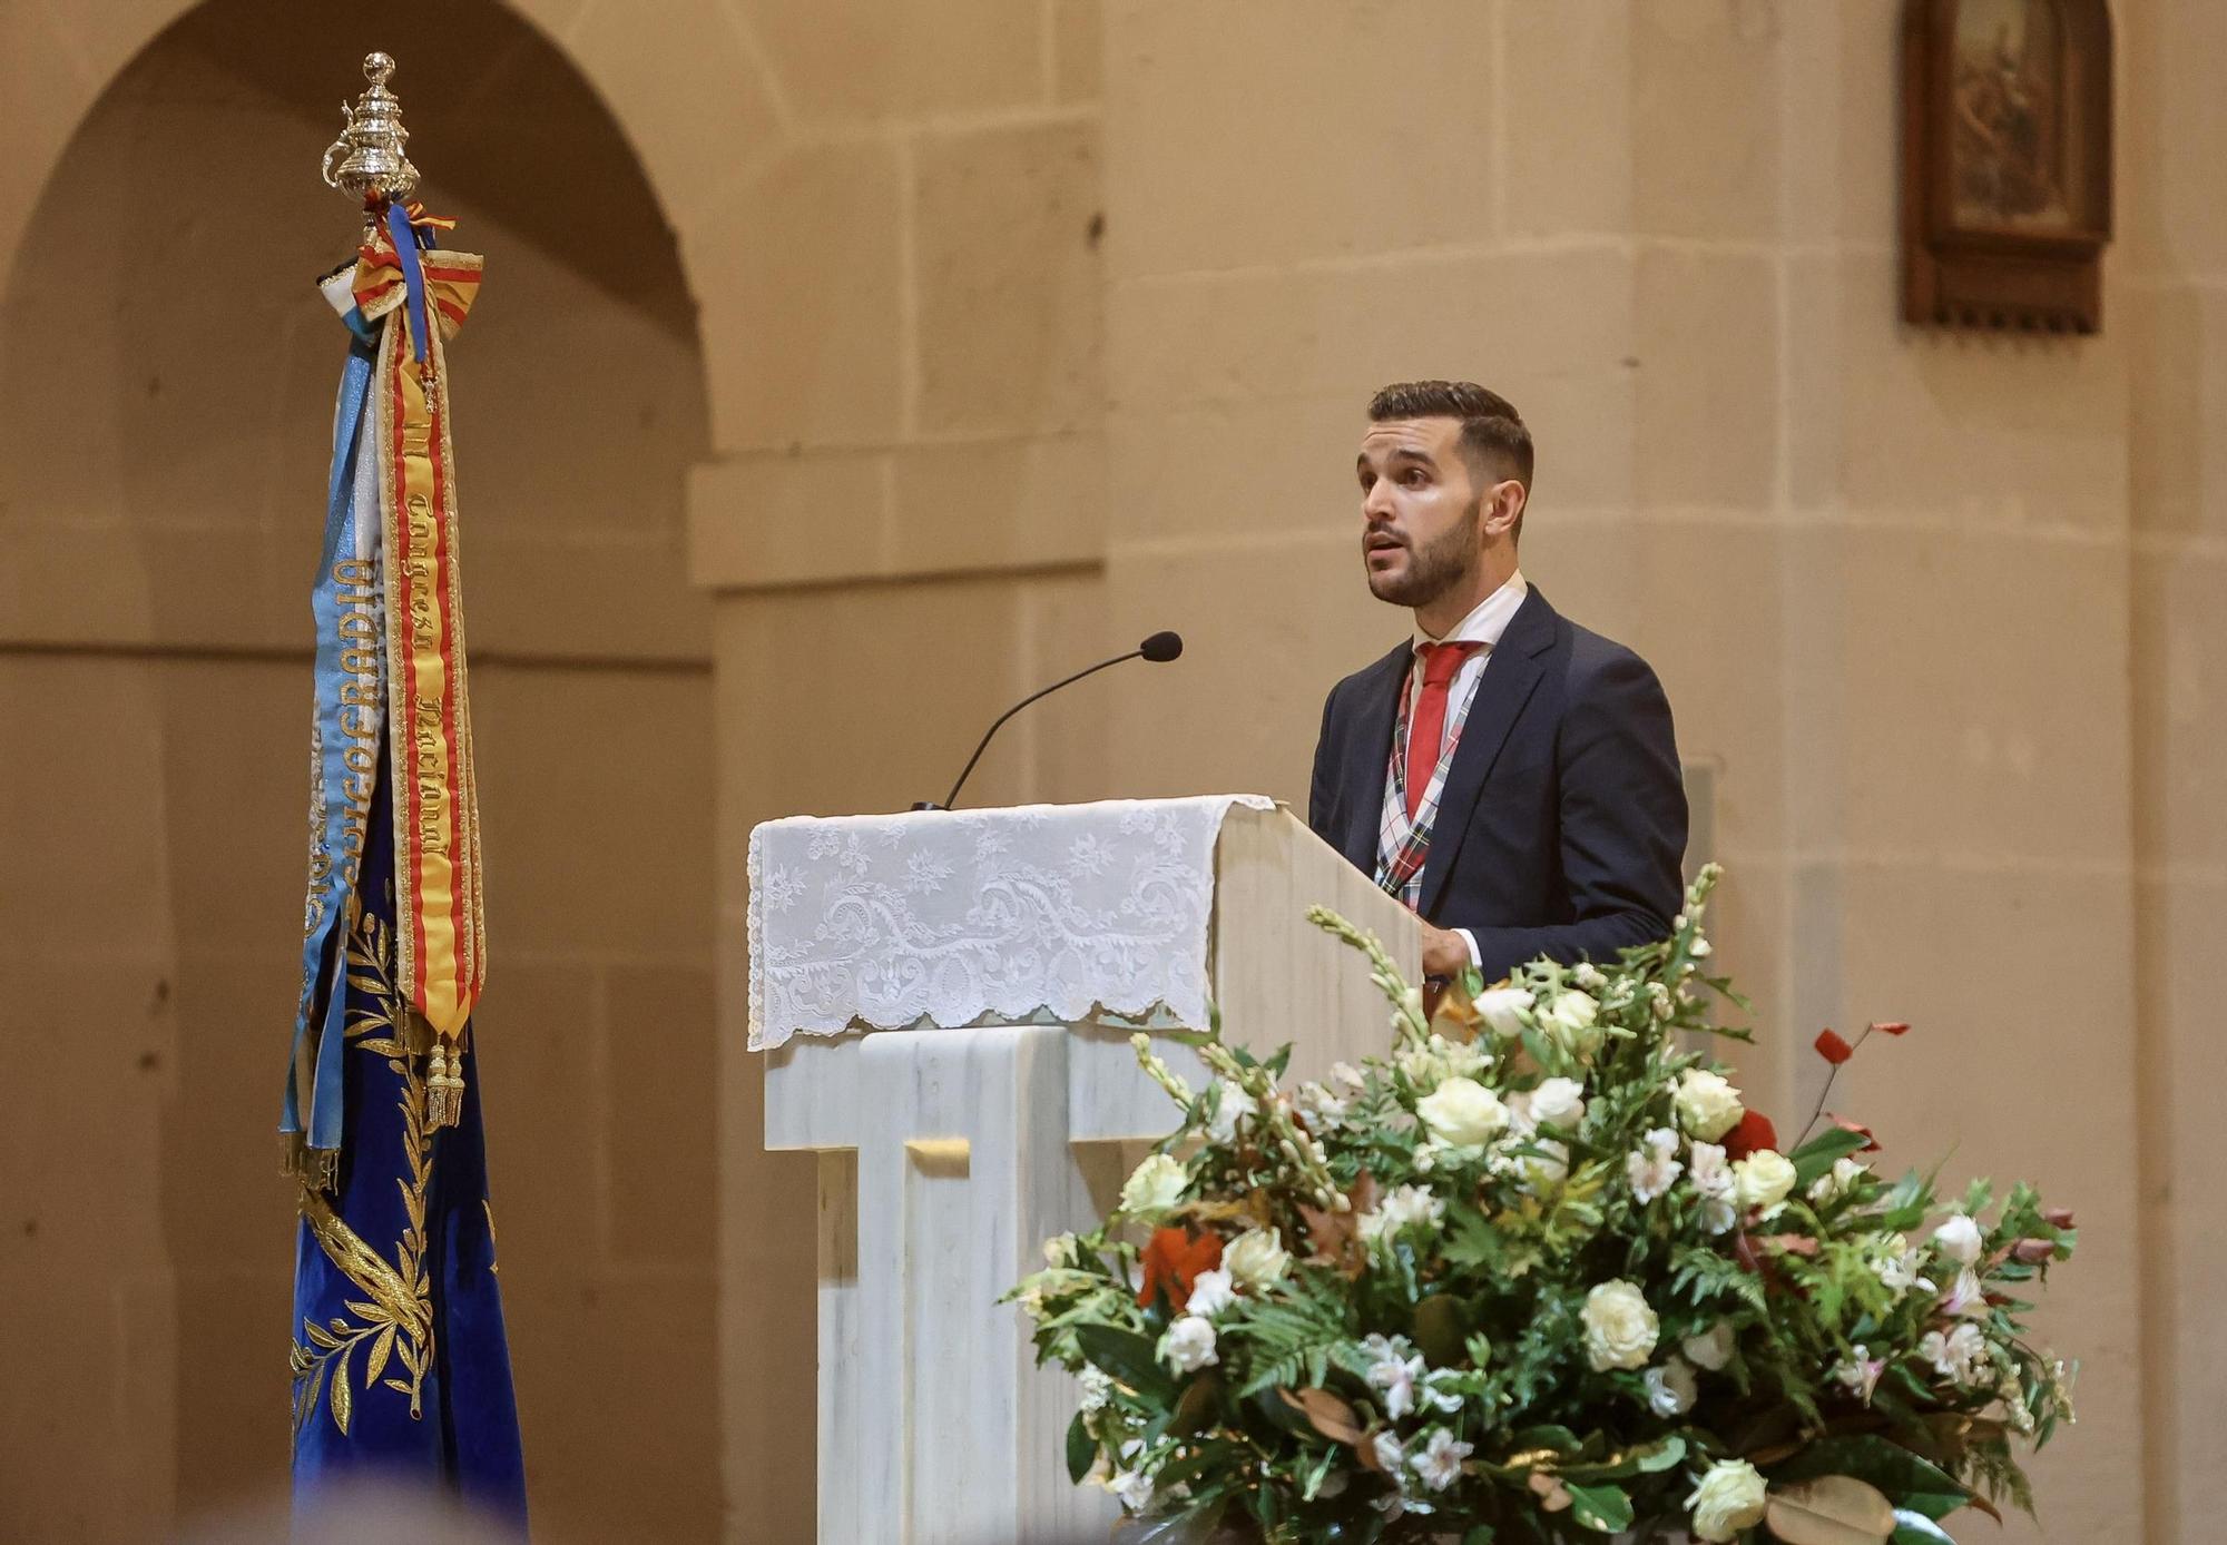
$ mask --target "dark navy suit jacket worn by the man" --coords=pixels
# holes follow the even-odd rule
[[[1372,875],[1410,655],[1401,643],[1330,688],[1314,746],[1307,824]],[[1485,982],[1539,955],[1608,962],[1668,937],[1684,855],[1686,786],[1661,683],[1532,590],[1454,748],[1421,915],[1477,937]]]

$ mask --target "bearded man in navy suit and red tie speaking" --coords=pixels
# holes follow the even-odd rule
[[[1632,650],[1517,568],[1532,439],[1468,381],[1390,385],[1356,461],[1361,563],[1414,637],[1330,688],[1307,824],[1423,919],[1423,971],[1610,960],[1670,933],[1686,788]]]

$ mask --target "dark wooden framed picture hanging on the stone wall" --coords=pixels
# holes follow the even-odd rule
[[[2109,240],[2105,0],[1904,0],[1904,321],[2096,332]]]

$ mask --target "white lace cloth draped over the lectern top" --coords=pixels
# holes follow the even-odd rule
[[[750,1046],[1165,1011],[1207,1022],[1214,844],[1263,795],[797,815],[750,833]]]

